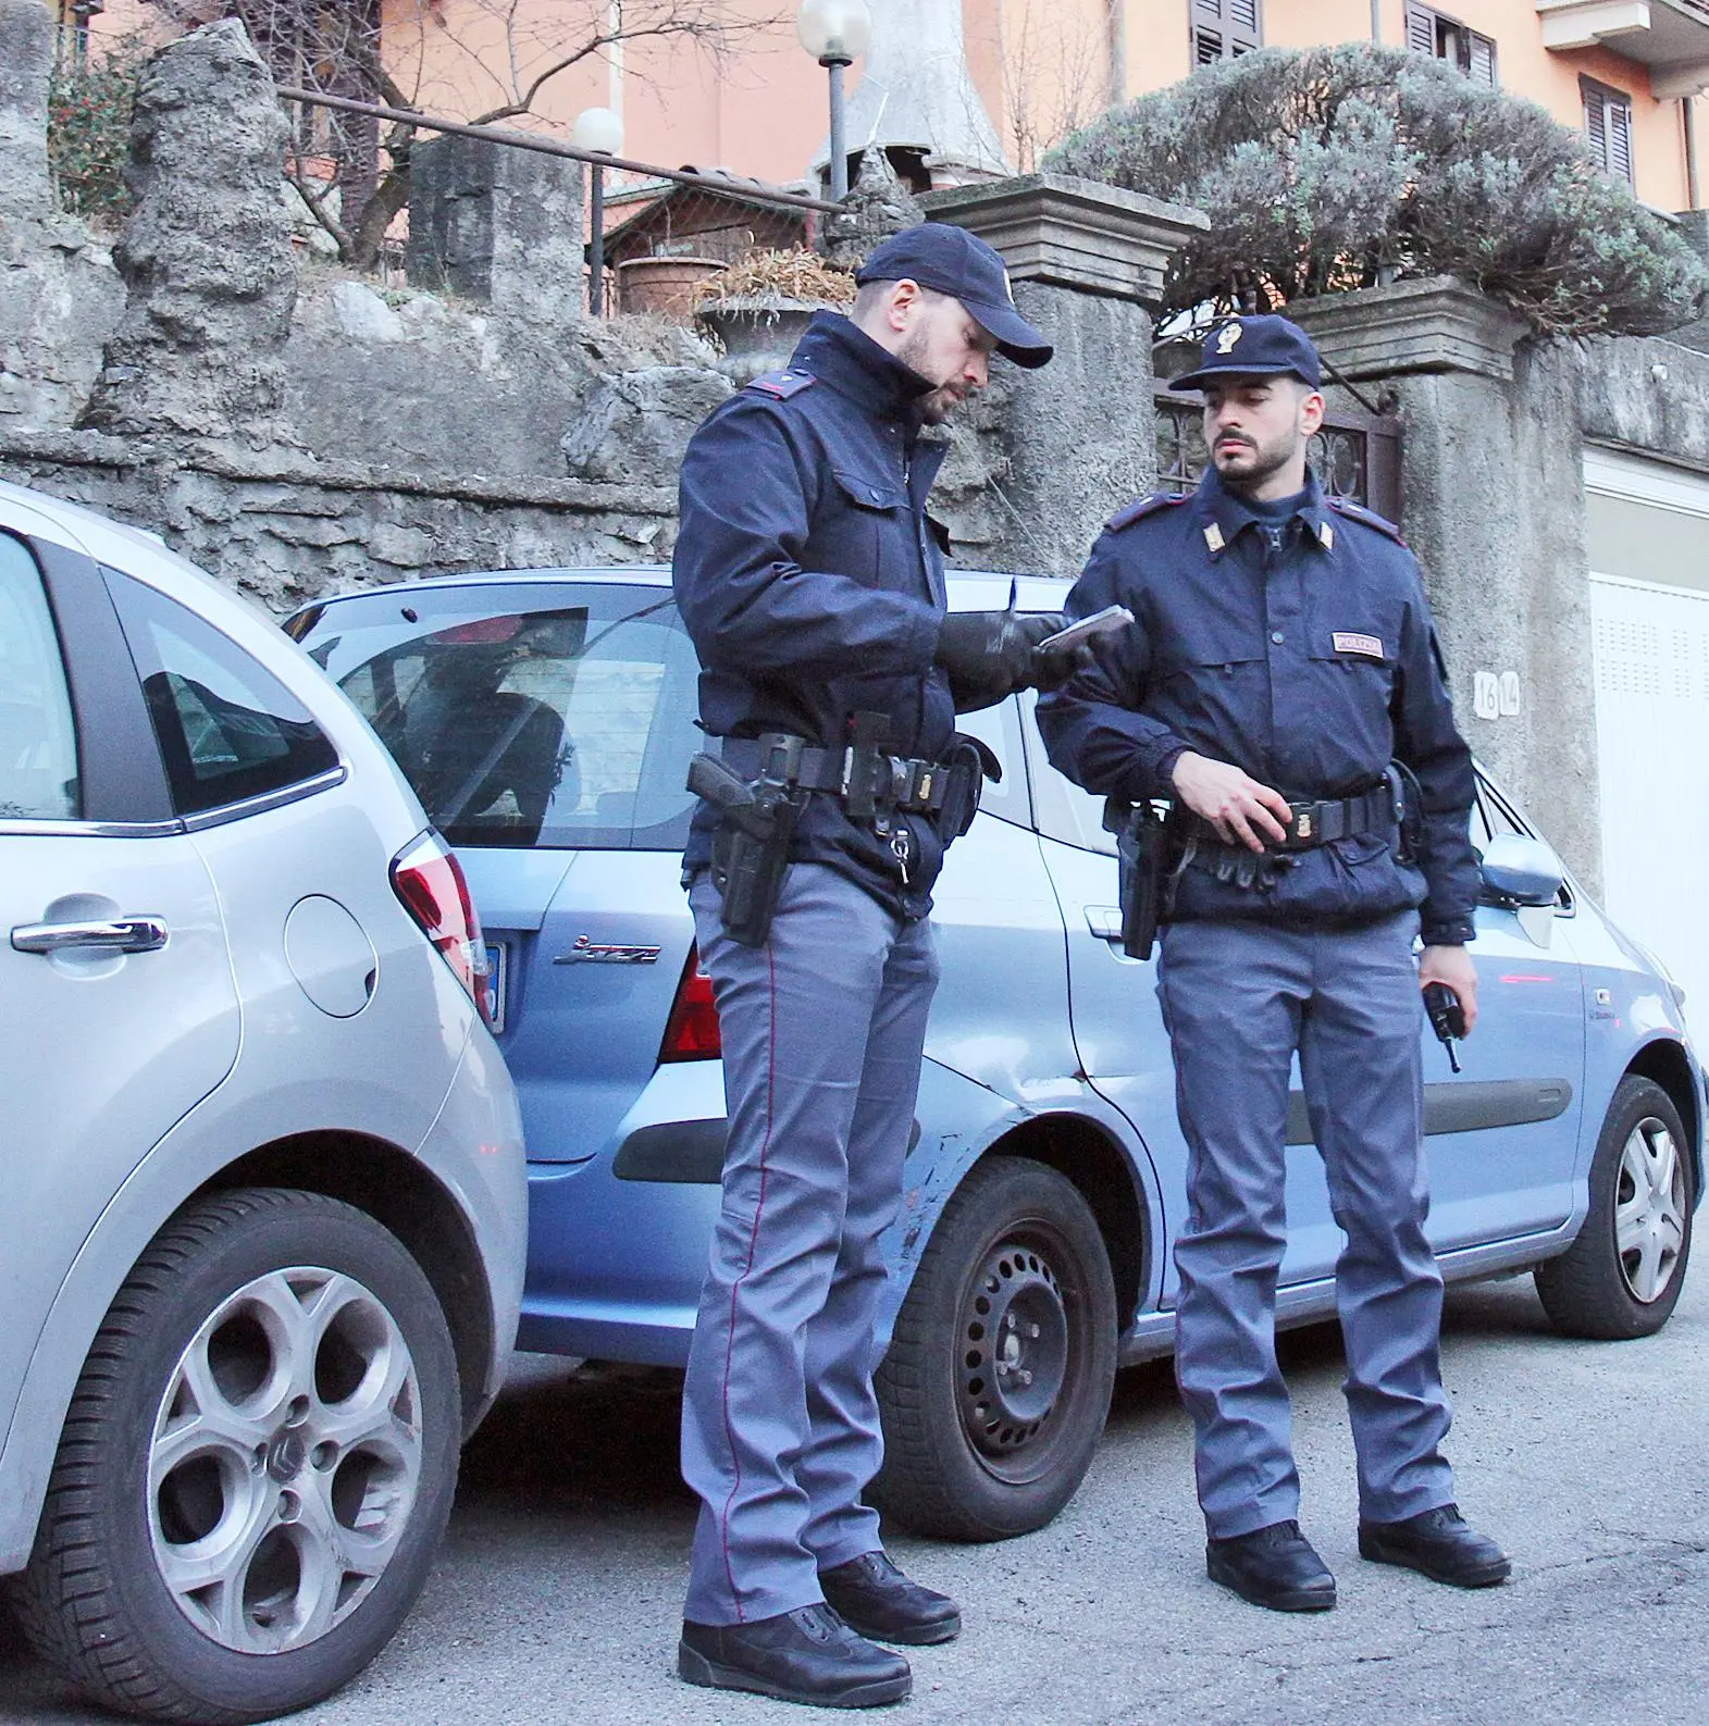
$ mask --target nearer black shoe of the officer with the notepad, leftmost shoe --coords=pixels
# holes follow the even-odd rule
[[[754,1690],[818,1709],[875,1709],[913,1690],[899,1654],[875,1648],[823,1605],[753,1624],[684,1619],[677,1674],[708,1690]]]

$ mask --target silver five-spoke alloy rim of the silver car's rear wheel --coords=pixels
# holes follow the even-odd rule
[[[421,1484],[421,1386],[354,1277],[243,1284],[178,1357],[148,1441],[148,1538],[178,1610],[236,1654],[318,1641],[373,1593]]]

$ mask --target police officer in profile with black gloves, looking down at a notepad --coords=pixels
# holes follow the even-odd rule
[[[943,447],[920,430],[986,385],[993,352],[1051,356],[1001,259],[927,223],[856,283],[851,316],[818,312],[787,371],[696,432],[675,556],[720,756],[697,768],[725,801],[699,806],[684,877],[728,1105],[682,1417],[701,1514],[678,1671],[842,1707],[910,1691],[908,1662],[868,1638],[962,1624],[891,1564],[861,1503],[882,1455],[879,1238],[937,979],[925,918],[981,775],[955,713],[1069,670],[1036,652],[1060,618],[944,614],[925,513]]]

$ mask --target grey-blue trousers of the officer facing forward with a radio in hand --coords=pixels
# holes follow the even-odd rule
[[[1422,1001],[1416,911],[1346,930],[1186,922],[1164,932],[1158,999],[1188,1143],[1176,1241],[1176,1376],[1214,1538],[1298,1515],[1288,1386],[1276,1365],[1295,1049],[1346,1234],[1336,1307],[1359,1505],[1391,1522],[1454,1498],[1440,1452],[1441,1272],[1424,1238]]]

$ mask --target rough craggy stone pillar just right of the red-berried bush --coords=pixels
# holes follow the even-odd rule
[[[83,425],[257,447],[281,437],[297,302],[285,128],[236,19],[148,62],[131,126],[136,207],[114,250],[129,292]]]

